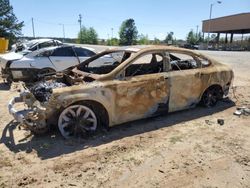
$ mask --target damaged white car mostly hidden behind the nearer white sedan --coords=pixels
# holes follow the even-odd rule
[[[63,43],[54,39],[34,39],[30,41],[19,42],[12,45],[11,51],[26,55],[30,52],[47,48],[51,46],[61,46]]]

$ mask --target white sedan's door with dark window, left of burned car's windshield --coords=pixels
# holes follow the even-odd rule
[[[56,67],[56,71],[62,71],[71,66],[79,64],[72,47],[56,48],[49,56],[51,63]]]

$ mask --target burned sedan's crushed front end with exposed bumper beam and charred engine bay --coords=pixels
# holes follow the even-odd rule
[[[33,133],[42,134],[48,131],[53,108],[49,103],[54,88],[65,87],[66,84],[56,81],[43,81],[34,86],[24,88],[18,97],[8,103],[9,113],[20,125]],[[17,110],[17,103],[23,103],[25,109]],[[52,118],[53,119],[53,118]]]

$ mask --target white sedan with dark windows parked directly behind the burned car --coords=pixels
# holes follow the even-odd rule
[[[63,45],[43,48],[21,59],[8,61],[5,69],[2,69],[2,76],[9,82],[20,80],[33,82],[39,78],[39,75],[62,71],[95,54],[94,49],[87,47]],[[105,61],[112,61],[112,58],[106,58]]]

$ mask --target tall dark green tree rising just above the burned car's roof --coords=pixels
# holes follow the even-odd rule
[[[119,36],[120,45],[133,45],[136,44],[138,31],[133,19],[127,19],[122,22]]]

